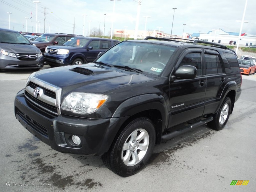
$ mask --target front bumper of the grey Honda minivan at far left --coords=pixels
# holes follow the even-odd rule
[[[44,67],[43,57],[32,61],[19,60],[2,54],[0,57],[0,69],[41,69],[42,67]]]

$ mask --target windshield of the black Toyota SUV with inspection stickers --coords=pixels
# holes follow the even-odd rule
[[[123,41],[106,51],[96,61],[112,66],[128,66],[159,75],[175,51],[175,47],[145,42]]]

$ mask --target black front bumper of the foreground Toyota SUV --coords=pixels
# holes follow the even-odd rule
[[[50,116],[26,101],[24,90],[16,95],[17,120],[34,136],[63,153],[102,155],[109,150],[122,123],[128,118],[87,119],[68,115]],[[81,139],[75,146],[72,135]]]

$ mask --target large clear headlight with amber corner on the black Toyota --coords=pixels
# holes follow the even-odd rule
[[[64,99],[61,109],[78,114],[88,114],[99,109],[107,99],[107,95],[73,92]]]

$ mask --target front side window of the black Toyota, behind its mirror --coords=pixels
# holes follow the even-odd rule
[[[197,68],[197,76],[202,75],[202,59],[201,53],[188,53],[186,54],[182,61],[180,62],[179,66],[182,65],[192,65]]]

